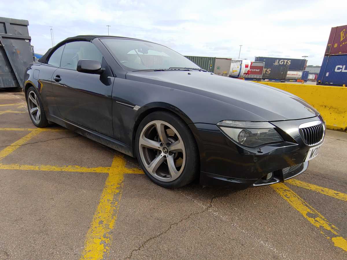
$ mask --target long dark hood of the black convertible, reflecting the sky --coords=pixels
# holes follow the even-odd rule
[[[138,71],[128,72],[126,77],[213,98],[258,115],[260,121],[296,120],[319,115],[303,99],[281,89],[210,72]]]

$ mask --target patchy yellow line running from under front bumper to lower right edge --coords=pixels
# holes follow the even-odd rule
[[[312,225],[319,228],[320,232],[333,244],[347,251],[347,240],[338,234],[339,229],[322,216],[316,209],[300,198],[293,190],[283,183],[271,185],[280,196],[293,208],[299,211]]]

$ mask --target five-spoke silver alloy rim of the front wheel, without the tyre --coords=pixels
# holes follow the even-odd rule
[[[161,120],[146,124],[138,145],[142,162],[154,178],[170,182],[183,172],[186,151],[181,136],[171,124]]]

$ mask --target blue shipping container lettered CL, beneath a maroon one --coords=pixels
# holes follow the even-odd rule
[[[347,85],[347,55],[325,56],[317,78],[318,85]]]

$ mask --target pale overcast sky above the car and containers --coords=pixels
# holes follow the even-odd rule
[[[233,3],[235,2],[235,3]],[[36,53],[82,34],[157,42],[183,55],[301,58],[321,65],[330,28],[344,25],[347,1],[0,1],[0,16],[29,20]]]

